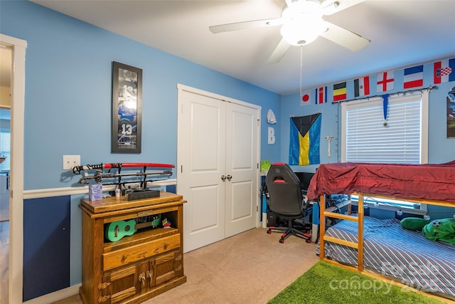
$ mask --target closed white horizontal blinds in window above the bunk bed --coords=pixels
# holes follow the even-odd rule
[[[419,164],[421,96],[346,109],[346,162]]]

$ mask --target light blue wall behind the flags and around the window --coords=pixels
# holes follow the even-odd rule
[[[455,56],[455,54],[454,54]],[[405,91],[403,89],[403,70],[395,70],[394,90],[387,93],[397,93]],[[424,64],[424,88],[432,86],[432,61]],[[353,80],[347,80],[348,98],[354,98]],[[376,83],[375,75],[370,75],[370,83]],[[446,137],[446,97],[455,86],[455,82],[441,83],[437,88],[429,93],[429,163],[449,162],[455,159],[455,138]],[[371,85],[370,95],[382,95],[376,93],[376,86]],[[289,156],[289,117],[304,116],[322,112],[321,124],[321,164],[341,161],[340,147],[338,139],[341,137],[341,106],[340,103],[331,103],[333,90],[332,85],[327,85],[327,103],[316,105],[301,105],[299,94],[282,96],[281,108],[281,161],[288,162]],[[327,156],[328,143],[325,137],[334,137],[331,141],[331,157]],[[298,171],[314,172],[318,166],[293,166]]]

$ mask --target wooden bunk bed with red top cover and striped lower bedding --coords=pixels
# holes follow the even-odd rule
[[[357,194],[358,214],[326,210],[329,194]],[[308,199],[319,198],[321,260],[455,299],[455,246],[430,241],[397,219],[364,216],[367,196],[455,207],[455,161],[444,164],[321,164]],[[348,208],[350,210],[350,208]],[[342,219],[326,230],[326,217]]]

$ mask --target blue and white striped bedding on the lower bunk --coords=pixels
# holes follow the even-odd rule
[[[455,296],[455,246],[425,239],[421,231],[400,226],[397,219],[364,216],[363,266],[425,292]],[[358,242],[358,224],[343,220],[326,236]],[[325,256],[357,266],[357,250],[325,242]],[[319,246],[316,251],[319,254]]]

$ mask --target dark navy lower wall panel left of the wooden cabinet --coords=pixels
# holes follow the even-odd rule
[[[70,196],[23,201],[23,300],[70,286]]]

